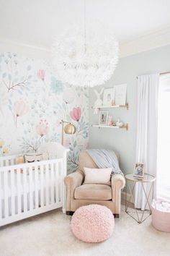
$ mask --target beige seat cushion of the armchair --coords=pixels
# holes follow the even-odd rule
[[[112,188],[104,184],[83,184],[76,187],[74,198],[81,200],[112,200]]]

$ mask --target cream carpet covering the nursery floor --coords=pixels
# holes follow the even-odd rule
[[[151,217],[142,224],[125,213],[115,219],[112,236],[99,244],[76,239],[71,216],[61,210],[28,218],[0,229],[0,256],[169,256],[170,233],[153,229]]]

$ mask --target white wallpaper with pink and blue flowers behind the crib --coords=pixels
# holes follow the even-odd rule
[[[40,144],[61,142],[61,119],[76,126],[64,135],[70,148],[68,172],[88,145],[89,90],[58,80],[44,61],[0,54],[0,155],[36,152]]]

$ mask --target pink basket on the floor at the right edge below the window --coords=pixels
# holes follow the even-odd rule
[[[158,202],[160,200],[157,200]],[[162,201],[162,200],[161,200]],[[164,232],[170,232],[170,212],[164,212],[151,206],[152,224],[155,229]]]

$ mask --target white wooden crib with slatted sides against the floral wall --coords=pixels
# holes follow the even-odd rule
[[[68,150],[57,142],[42,145],[50,160],[16,164],[18,155],[0,158],[0,226],[55,208],[65,212]]]

